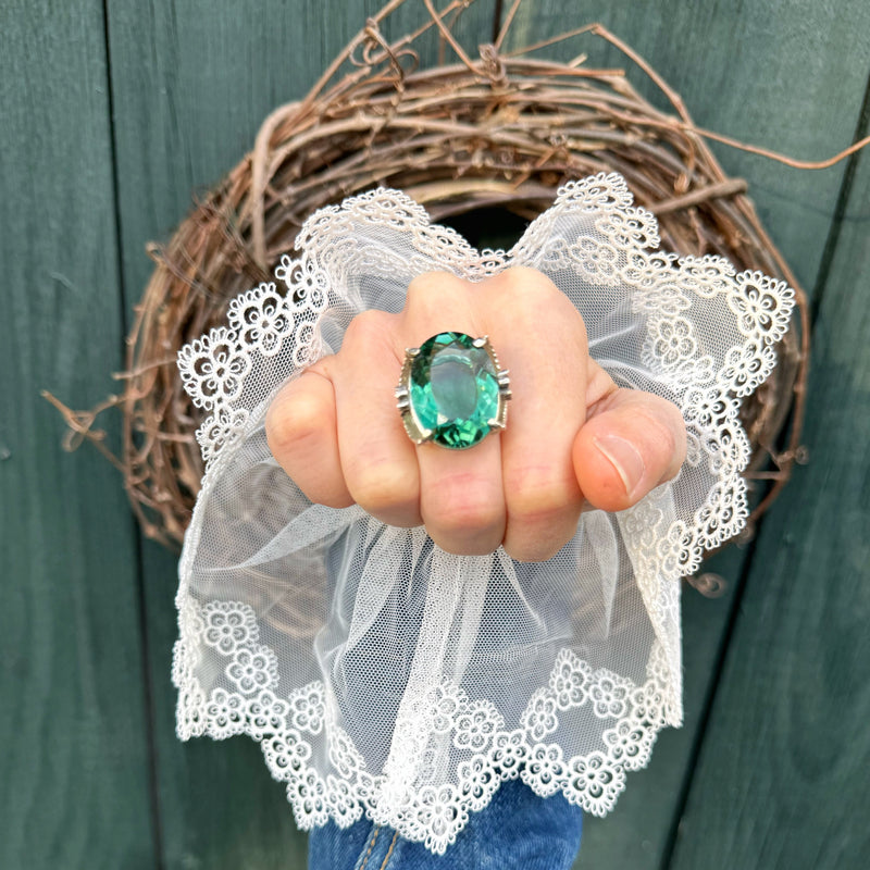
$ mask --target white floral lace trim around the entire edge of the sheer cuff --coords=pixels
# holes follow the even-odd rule
[[[559,235],[567,221],[576,227],[570,238]],[[372,227],[383,244],[365,241]],[[676,581],[697,568],[705,549],[719,546],[745,524],[741,472],[749,444],[738,419],[739,402],[770,374],[773,346],[786,332],[794,306],[794,293],[783,282],[758,272],[736,274],[719,257],[679,259],[654,250],[658,243],[655,217],[633,207],[624,179],[613,174],[566,185],[509,252],[476,251],[452,229],[432,225],[425,210],[403,194],[375,190],[309,219],[297,240],[301,257],[283,257],[275,282],[238,297],[226,326],[178,355],[186,389],[209,413],[197,432],[207,462],[207,494],[252,426],[262,422],[271,391],[321,356],[319,321],[324,312],[360,308],[347,279],[355,273],[395,278],[397,273],[438,268],[480,279],[510,265],[526,265],[545,273],[569,270],[594,287],[624,288],[643,328],[641,362],[676,401],[686,423],[688,451],[681,476],[694,475],[707,490],[697,498],[698,507],[683,509],[678,520],[672,519],[672,485],[617,517],[658,638],[643,685],[593,671],[566,648],[548,685],[529,699],[519,726],[509,729],[492,705],[472,701],[458,686],[444,683],[435,695],[412,705],[414,722],[398,721],[396,728],[425,734],[422,717],[434,733],[449,736],[467,754],[453,781],[414,790],[390,765],[373,774],[337,724],[323,684],[278,697],[276,657],[260,643],[245,605],[213,601],[199,609],[192,602],[185,577],[200,531],[195,517],[177,599],[179,736],[247,733],[261,741],[273,775],[287,782],[300,826],[327,818],[350,824],[365,811],[435,852],[444,852],[468,813],[485,806],[504,779],[522,775],[542,795],[561,790],[595,815],[612,807],[625,771],[646,763],[657,731],[680,722]],[[722,334],[734,336],[718,350],[704,340],[710,338],[709,324],[701,335],[695,322],[696,313],[711,304],[722,318]],[[208,696],[195,674],[198,644],[226,659],[223,685]],[[575,708],[601,717],[606,712],[613,725],[605,731],[600,748],[566,759],[548,737],[560,716]],[[310,763],[313,739],[328,741],[332,768],[325,776]]]

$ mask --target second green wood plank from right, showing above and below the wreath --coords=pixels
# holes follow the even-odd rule
[[[507,4],[506,4],[507,5]],[[566,15],[563,3],[526,0],[510,30],[519,48],[593,21],[636,49],[683,97],[695,122],[773,150],[818,159],[850,142],[870,57],[870,9],[862,2],[819,8],[809,0],[771,3],[643,4],[593,0]],[[654,102],[668,108],[645,74],[589,36],[538,52],[562,60],[588,53],[588,65],[617,65]],[[823,261],[845,163],[799,172],[760,157],[713,146],[723,167],[744,176],[762,222],[798,279],[810,289]],[[732,586],[745,554],[716,566]],[[705,699],[733,617],[730,596],[712,602],[684,596],[686,721],[666,732],[649,769],[634,776],[607,819],[587,819],[580,868],[658,868],[667,858],[682,786],[698,742]],[[716,824],[716,822],[709,822]],[[688,867],[689,865],[686,865]],[[695,867],[706,866],[704,863]],[[731,865],[739,866],[739,865]]]

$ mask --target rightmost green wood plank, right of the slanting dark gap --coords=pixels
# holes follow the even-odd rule
[[[858,870],[870,832],[870,159],[815,328],[810,464],[759,537],[675,870]]]

